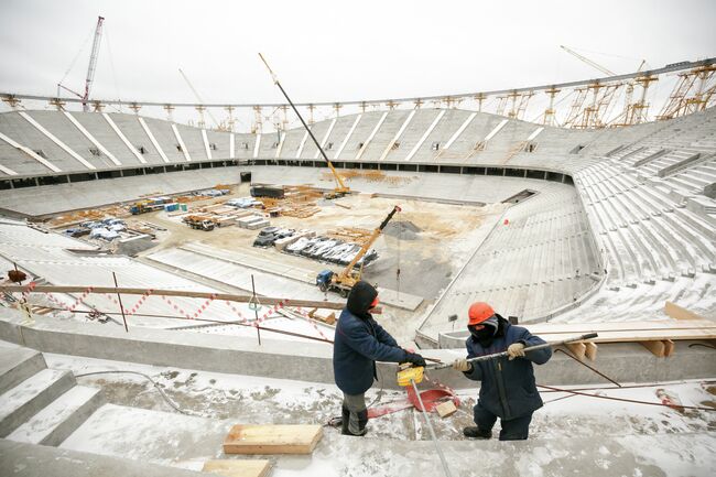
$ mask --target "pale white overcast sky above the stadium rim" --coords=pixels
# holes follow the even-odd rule
[[[296,101],[442,95],[600,76],[716,54],[716,1],[0,0],[0,90],[82,90],[106,18],[94,97]],[[79,55],[78,55],[79,54]],[[610,56],[611,55],[611,56]],[[112,67],[113,66],[113,67]]]

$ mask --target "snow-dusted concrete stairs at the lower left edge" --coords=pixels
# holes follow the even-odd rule
[[[58,445],[102,404],[99,389],[76,386],[32,349],[0,348],[0,437]]]

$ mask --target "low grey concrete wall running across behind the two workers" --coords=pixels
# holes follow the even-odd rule
[[[130,328],[130,333],[110,325],[84,324],[37,317],[34,326],[20,324],[15,311],[0,313],[0,339],[55,353],[89,358],[139,362],[263,376],[276,379],[332,383],[333,348],[322,343],[302,343],[286,347],[285,342],[267,338],[262,345],[253,338],[203,335],[186,332]],[[657,358],[636,344],[599,345],[599,354],[590,366],[616,381],[655,382],[716,377],[714,350],[688,348],[687,342],[676,342],[670,358]],[[464,350],[421,350],[424,356],[451,362],[464,357]],[[476,382],[465,379],[452,369],[427,371],[431,380],[456,389],[474,388]],[[541,384],[608,384],[609,382],[562,353],[543,366],[535,366]],[[397,389],[395,367],[380,364],[380,383]]]

